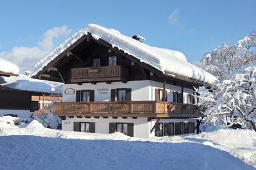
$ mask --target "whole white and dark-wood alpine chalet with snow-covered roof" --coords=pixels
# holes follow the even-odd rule
[[[64,82],[56,103],[63,130],[120,131],[134,137],[194,133],[193,87],[215,76],[176,50],[149,46],[140,37],[89,24],[34,66],[33,78]]]

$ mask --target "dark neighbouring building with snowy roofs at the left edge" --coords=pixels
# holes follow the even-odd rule
[[[31,117],[40,110],[40,100],[35,96],[49,96],[51,90],[50,84],[19,74],[15,64],[0,58],[0,116]]]

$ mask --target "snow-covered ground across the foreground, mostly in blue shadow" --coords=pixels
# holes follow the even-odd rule
[[[36,120],[19,128],[16,121],[0,118],[0,160],[4,160],[0,169],[193,170],[255,169],[251,165],[256,165],[256,133],[250,130],[142,139],[47,129]]]

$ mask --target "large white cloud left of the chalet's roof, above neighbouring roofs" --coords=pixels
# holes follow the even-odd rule
[[[43,33],[41,41],[32,47],[14,46],[10,51],[0,52],[0,57],[5,58],[19,66],[21,72],[32,70],[33,64],[42,58],[47,52],[53,49],[54,39],[71,33],[67,26],[54,27]]]

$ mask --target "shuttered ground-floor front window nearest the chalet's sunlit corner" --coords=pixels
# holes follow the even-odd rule
[[[132,123],[109,123],[109,133],[119,131],[133,137],[133,126],[134,124]]]

